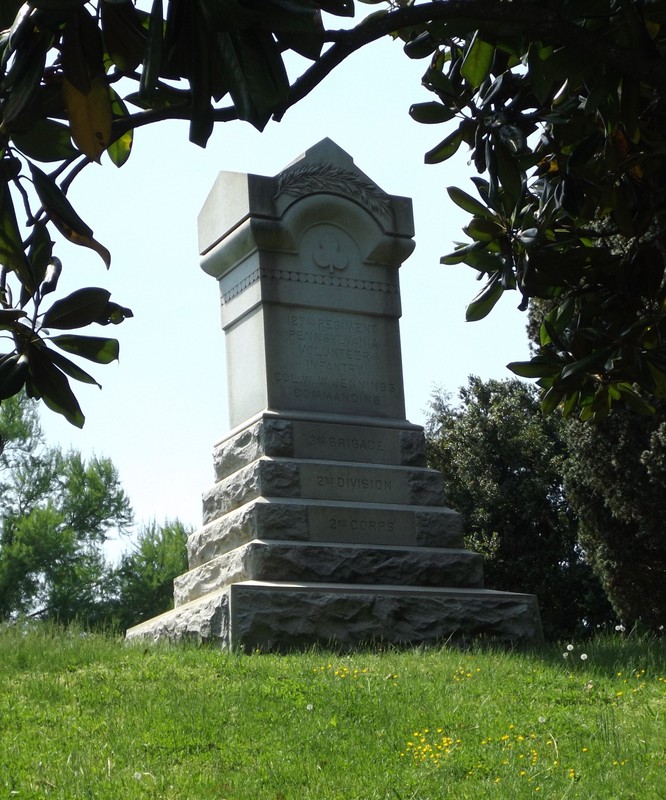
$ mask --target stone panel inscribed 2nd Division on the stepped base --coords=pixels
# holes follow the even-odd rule
[[[400,469],[356,469],[335,464],[302,464],[301,497],[366,503],[409,503],[408,473]]]

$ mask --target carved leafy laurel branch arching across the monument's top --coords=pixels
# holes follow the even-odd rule
[[[391,204],[384,192],[353,172],[330,164],[304,164],[280,175],[275,197],[287,194],[300,197],[315,192],[334,191],[353,197],[375,214],[391,216]]]

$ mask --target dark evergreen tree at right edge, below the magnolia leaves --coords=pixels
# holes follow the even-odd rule
[[[618,409],[565,429],[567,497],[587,560],[626,627],[666,620],[666,407],[650,417]]]

